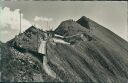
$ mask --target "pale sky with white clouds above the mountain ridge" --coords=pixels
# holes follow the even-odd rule
[[[0,2],[0,41],[6,42],[31,25],[49,30],[64,20],[86,16],[128,41],[125,1],[3,1]],[[49,26],[48,26],[49,25]]]

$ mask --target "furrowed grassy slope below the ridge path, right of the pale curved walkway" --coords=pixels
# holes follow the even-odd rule
[[[47,57],[64,81],[120,83],[128,79],[128,57],[122,54],[97,39],[74,46],[49,43]]]

